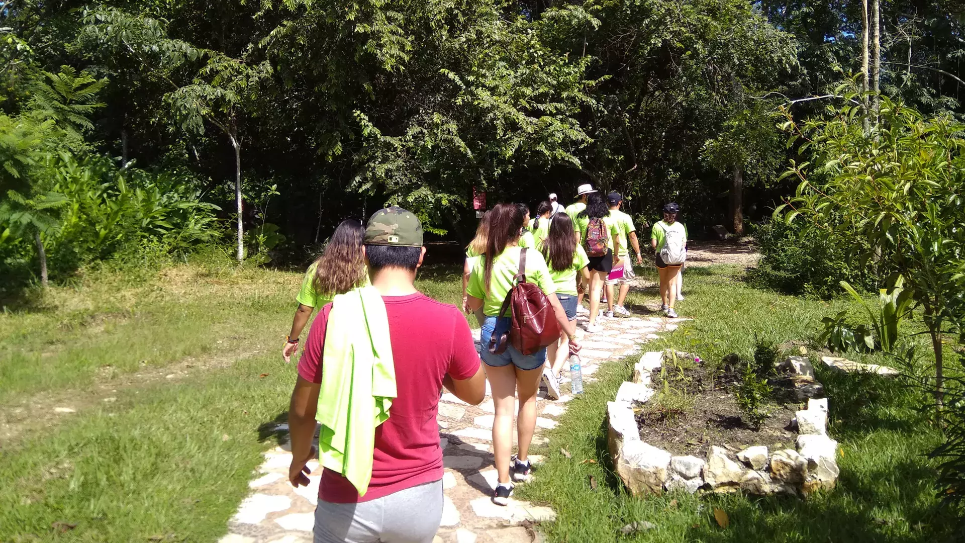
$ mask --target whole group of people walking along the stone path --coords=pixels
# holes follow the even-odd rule
[[[432,540],[442,514],[436,415],[443,388],[475,405],[483,401],[486,380],[491,386],[493,502],[508,504],[514,483],[529,478],[540,381],[550,398],[560,397],[565,360],[580,350],[577,314],[588,312],[586,331],[599,331],[605,292],[606,316],[630,315],[623,305],[634,278],[630,247],[635,263],[643,263],[620,194],[604,201],[584,185],[577,198],[563,208],[551,194],[533,218],[522,204],[498,204],[483,215],[466,248],[461,307],[480,325],[479,351],[458,309],[415,288],[425,247],[414,214],[387,208],[367,225],[356,219],[339,225],[305,275],[283,348],[290,361],[319,309],[298,361],[289,413],[291,483],[308,483],[305,466],[316,454],[324,468],[317,542]],[[663,310],[671,317],[686,248],[677,212],[676,204],[665,206],[651,233]],[[545,295],[559,338],[529,354],[511,343],[487,349],[510,332],[507,300],[520,277]],[[411,515],[413,507],[424,514]]]

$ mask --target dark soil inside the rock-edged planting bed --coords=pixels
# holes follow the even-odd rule
[[[689,366],[689,367],[688,367]],[[796,430],[789,429],[794,412],[803,409],[797,402],[789,379],[775,376],[768,382],[774,388],[774,399],[767,406],[769,416],[759,428],[744,420],[732,390],[739,384],[739,376],[726,367],[712,371],[692,360],[680,369],[665,362],[662,370],[651,376],[651,387],[657,393],[638,408],[637,423],[640,438],[653,446],[675,455],[692,454],[705,457],[711,445],[723,446],[737,452],[752,445],[769,448],[795,448]],[[685,402],[661,398],[664,379],[683,394]],[[684,409],[680,409],[680,404]]]

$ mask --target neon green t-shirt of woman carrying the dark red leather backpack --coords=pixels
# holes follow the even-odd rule
[[[483,300],[483,313],[486,316],[499,314],[499,309],[503,306],[503,300],[512,288],[512,278],[519,272],[519,251],[520,247],[507,247],[505,251],[496,257],[492,265],[492,276],[489,279],[489,292],[485,292],[485,256],[480,257],[469,275],[469,284],[466,285],[466,294],[473,298]],[[526,280],[536,283],[540,290],[545,294],[556,292],[556,285],[550,277],[549,270],[546,269],[546,261],[543,260],[539,251],[528,249],[526,251]],[[508,310],[505,316],[509,316]]]

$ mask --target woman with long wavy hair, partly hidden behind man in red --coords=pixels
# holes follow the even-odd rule
[[[309,266],[302,280],[301,290],[295,300],[298,308],[291,322],[291,331],[285,338],[282,357],[286,363],[298,350],[298,336],[316,309],[346,292],[369,283],[369,271],[365,266],[362,241],[365,226],[357,218],[346,218],[332,234],[325,250]]]

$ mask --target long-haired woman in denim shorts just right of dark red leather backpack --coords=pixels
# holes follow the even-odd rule
[[[590,259],[583,245],[576,243],[573,221],[567,214],[553,216],[546,239],[539,246],[556,285],[556,297],[563,305],[566,318],[572,323],[576,321],[576,295],[582,285],[577,281],[577,276],[590,278],[590,270],[587,269]],[[575,328],[575,323],[573,326]],[[569,337],[561,331],[560,339],[546,348],[547,364],[543,366],[542,378],[547,397],[553,400],[560,399],[560,371],[569,353],[568,347]]]

